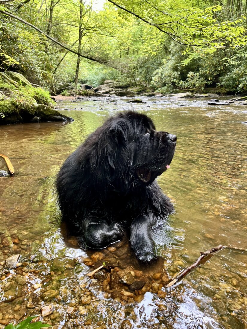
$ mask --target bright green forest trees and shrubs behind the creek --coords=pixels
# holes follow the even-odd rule
[[[0,0],[0,68],[46,89],[105,80],[247,90],[247,0]]]

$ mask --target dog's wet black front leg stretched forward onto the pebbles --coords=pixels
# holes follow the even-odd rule
[[[155,258],[155,242],[151,236],[153,222],[153,218],[148,215],[140,215],[130,226],[131,248],[143,262],[150,262]]]

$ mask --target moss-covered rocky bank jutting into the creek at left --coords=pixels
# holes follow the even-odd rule
[[[0,124],[72,121],[54,110],[48,91],[33,87],[20,73],[0,73]]]

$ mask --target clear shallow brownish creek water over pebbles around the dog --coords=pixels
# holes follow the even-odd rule
[[[75,119],[68,124],[0,127],[0,153],[16,172],[0,178],[1,326],[39,315],[53,328],[247,328],[247,253],[222,250],[163,288],[200,251],[219,244],[247,248],[247,106],[126,99],[59,102]],[[55,205],[53,182],[63,161],[106,117],[127,109],[145,112],[158,130],[178,136],[171,168],[158,178],[176,212],[156,237],[157,264],[146,268],[133,262],[127,241],[86,253],[73,237],[64,239]],[[8,270],[4,261],[13,254],[22,256],[21,264]],[[88,277],[105,259],[112,270],[103,269],[101,281]],[[119,271],[144,287],[130,290]],[[42,316],[46,305],[49,314],[43,309]]]

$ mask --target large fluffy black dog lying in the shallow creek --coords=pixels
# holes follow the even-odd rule
[[[129,111],[110,117],[69,156],[56,187],[81,248],[107,247],[127,231],[138,259],[155,257],[152,229],[173,212],[155,178],[169,168],[176,140]]]

